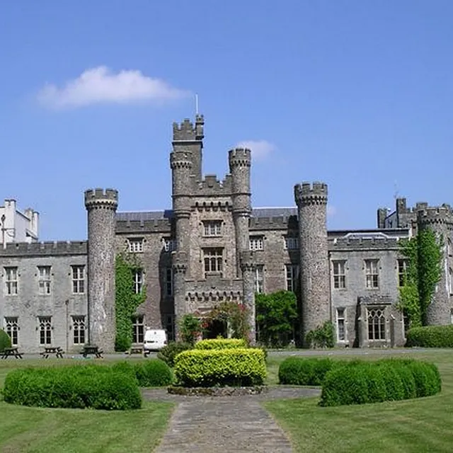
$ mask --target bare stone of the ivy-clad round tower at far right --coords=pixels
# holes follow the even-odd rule
[[[421,205],[418,206],[421,207]],[[452,225],[452,208],[448,205],[442,205],[441,207],[424,206],[417,211],[418,231],[429,228],[442,240],[442,263],[440,265],[442,272],[432,302],[426,311],[425,322],[428,326],[446,325],[451,323],[447,241],[451,235]]]

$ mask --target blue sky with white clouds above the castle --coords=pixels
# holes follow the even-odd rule
[[[86,238],[83,192],[171,207],[173,121],[205,115],[204,172],[252,149],[253,205],[329,186],[330,229],[394,195],[453,203],[450,0],[57,0],[0,6],[0,200],[42,240]],[[253,147],[252,147],[253,148]]]

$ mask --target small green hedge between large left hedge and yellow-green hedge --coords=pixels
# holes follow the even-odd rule
[[[146,362],[134,364],[117,362],[112,369],[130,374],[132,379],[137,379],[140,387],[166,386],[173,382],[173,374],[170,367],[159,359],[149,359]]]

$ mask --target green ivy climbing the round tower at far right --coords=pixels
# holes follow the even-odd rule
[[[442,238],[431,229],[401,241],[406,258],[404,285],[399,288],[399,308],[408,316],[411,327],[425,326],[428,306],[442,277]]]

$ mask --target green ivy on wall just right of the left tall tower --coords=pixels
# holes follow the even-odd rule
[[[115,350],[125,351],[132,345],[132,317],[137,306],[147,298],[146,288],[142,286],[139,294],[134,292],[134,270],[140,269],[137,256],[119,253],[115,259]]]

